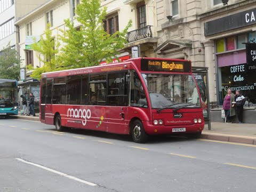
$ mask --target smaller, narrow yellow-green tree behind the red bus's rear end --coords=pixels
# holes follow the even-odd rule
[[[42,73],[59,70],[56,60],[56,55],[59,52],[59,43],[55,43],[55,39],[52,37],[52,30],[50,30],[50,25],[47,25],[44,33],[45,38],[41,35],[40,41],[33,44],[33,50],[43,55],[43,57],[37,56],[37,58],[44,63],[44,65],[43,67],[36,69],[31,65],[28,66],[28,70],[33,70],[33,73],[30,76],[36,79],[41,79]]]

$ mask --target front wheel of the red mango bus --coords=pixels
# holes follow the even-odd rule
[[[141,121],[138,119],[131,124],[132,139],[137,143],[144,143],[148,140],[148,135],[144,131],[144,127]]]

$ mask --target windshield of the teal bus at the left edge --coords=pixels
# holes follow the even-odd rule
[[[0,104],[15,104],[17,103],[16,87],[0,87]]]

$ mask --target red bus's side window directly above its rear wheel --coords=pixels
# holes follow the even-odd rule
[[[66,104],[66,77],[54,78],[52,104]]]

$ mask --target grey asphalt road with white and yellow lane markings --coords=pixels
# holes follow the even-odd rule
[[[255,191],[256,145],[0,119],[0,191]]]

